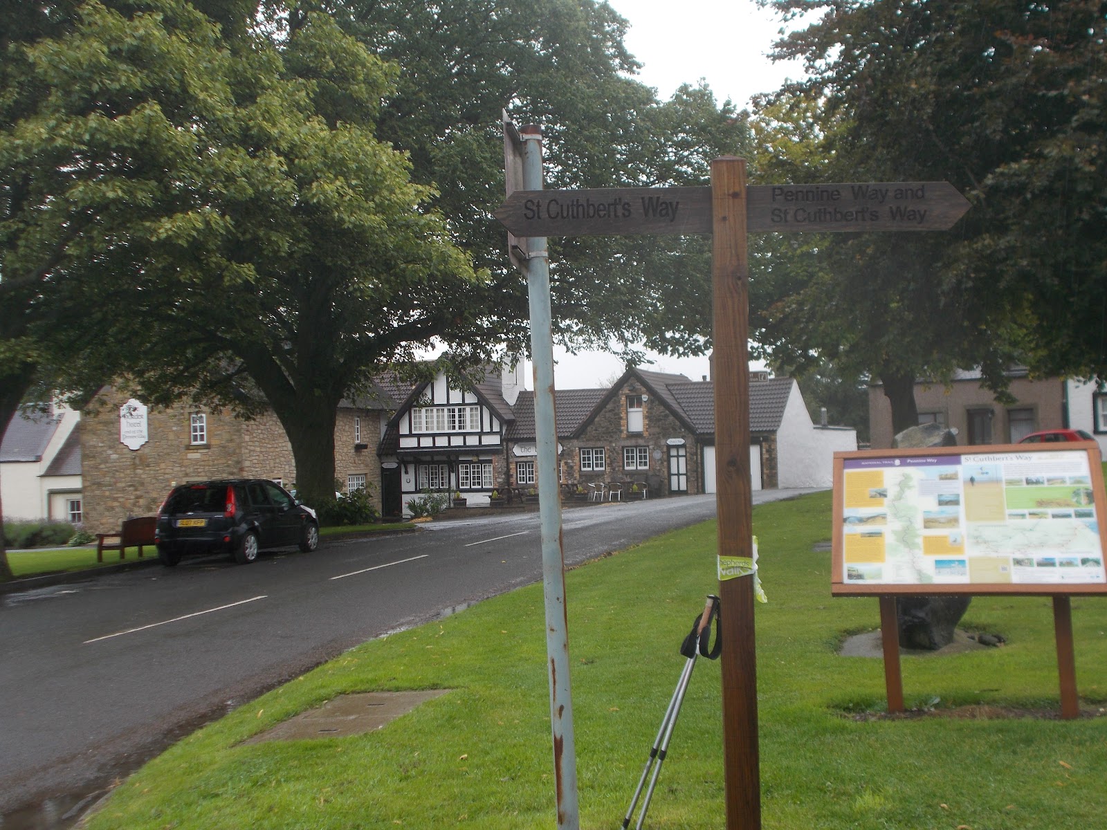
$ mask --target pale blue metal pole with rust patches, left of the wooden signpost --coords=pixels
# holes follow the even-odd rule
[[[528,124],[519,131],[519,138],[523,142],[524,189],[541,190],[542,132],[538,126]],[[561,490],[557,480],[554,333],[546,239],[530,237],[527,250],[530,357],[535,366],[535,437],[538,444],[538,510],[542,539],[542,587],[546,594],[546,654],[549,660],[557,826],[559,830],[577,830],[580,827],[577,806],[577,747],[569,686],[569,624],[565,599],[565,552],[561,548]]]

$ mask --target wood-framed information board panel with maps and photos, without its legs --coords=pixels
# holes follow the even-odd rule
[[[835,453],[831,592],[1107,593],[1094,442]]]

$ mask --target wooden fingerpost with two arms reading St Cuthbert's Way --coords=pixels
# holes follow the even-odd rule
[[[720,568],[727,830],[761,828],[747,234],[944,230],[968,209],[968,200],[944,181],[748,187],[745,160],[727,156],[712,162],[711,187],[517,190],[496,210],[520,238],[712,235],[717,550],[720,560],[751,563],[725,573]],[[562,824],[559,815],[562,826],[576,827],[576,817]]]

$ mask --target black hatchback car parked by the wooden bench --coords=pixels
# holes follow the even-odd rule
[[[188,553],[228,553],[246,564],[258,551],[319,547],[315,511],[263,478],[174,487],[157,511],[157,556],[173,567]]]

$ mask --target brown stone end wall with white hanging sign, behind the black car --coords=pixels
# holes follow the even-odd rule
[[[120,443],[120,406],[130,397],[107,388],[82,414],[84,523],[93,533],[117,532],[128,517],[153,516],[178,484],[244,475],[242,423],[229,413],[151,407],[149,440],[133,450]],[[207,416],[207,444],[190,444],[194,413]]]

